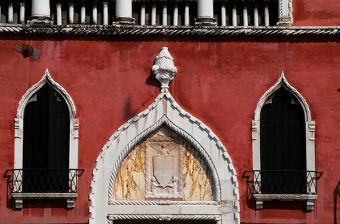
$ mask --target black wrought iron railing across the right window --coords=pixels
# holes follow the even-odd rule
[[[249,170],[253,194],[317,194],[319,171],[305,170]],[[252,173],[252,175],[249,175]],[[252,179],[251,179],[252,177]]]

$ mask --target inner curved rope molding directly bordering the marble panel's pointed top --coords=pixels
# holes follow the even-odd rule
[[[119,154],[116,162],[114,163],[114,166],[111,171],[109,183],[108,183],[108,199],[113,200],[113,187],[114,187],[114,181],[117,175],[117,172],[120,168],[120,164],[123,162],[123,160],[126,158],[128,153],[134,148],[134,146],[140,142],[144,137],[158,129],[163,124],[166,124],[171,130],[185,138],[187,141],[189,141],[192,146],[200,153],[200,155],[205,160],[207,166],[209,167],[209,171],[212,174],[212,180],[213,180],[213,194],[214,194],[214,200],[219,202],[221,200],[221,191],[220,191],[220,183],[217,175],[216,168],[213,165],[213,162],[211,161],[209,155],[205,152],[205,150],[202,148],[202,146],[186,131],[179,128],[175,124],[173,124],[166,115],[163,115],[157,122],[155,122],[153,125],[146,128],[144,131],[139,133],[135,138],[132,139],[122,150],[122,152]],[[192,202],[193,203],[193,202]]]

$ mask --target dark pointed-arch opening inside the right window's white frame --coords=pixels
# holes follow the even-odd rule
[[[260,114],[261,170],[272,170],[261,173],[261,191],[284,193],[292,181],[298,181],[303,183],[298,184],[294,192],[303,192],[305,172],[275,170],[305,170],[305,154],[303,108],[282,86],[266,101]]]

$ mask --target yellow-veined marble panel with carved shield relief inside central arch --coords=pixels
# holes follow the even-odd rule
[[[163,126],[124,159],[114,199],[212,200],[209,171],[189,142]]]

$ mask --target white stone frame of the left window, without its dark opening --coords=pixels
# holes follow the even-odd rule
[[[19,105],[16,112],[16,117],[14,119],[14,170],[22,169],[22,160],[23,160],[23,119],[24,119],[24,109],[29,103],[31,97],[44,85],[48,83],[53,87],[55,91],[57,91],[65,100],[68,111],[69,111],[69,169],[77,169],[78,168],[78,127],[79,122],[76,118],[76,111],[74,102],[71,96],[67,93],[67,91],[59,85],[57,82],[53,80],[50,76],[48,69],[46,68],[44,75],[42,78],[33,86],[31,86],[21,97],[19,101]],[[17,171],[14,171],[17,172]],[[74,172],[74,173],[73,173]],[[69,173],[69,186],[71,189],[75,189],[76,181],[74,183],[74,175],[77,175],[77,171],[72,171]],[[21,187],[21,178],[18,173],[14,173],[13,176],[17,176],[15,179],[13,177],[13,187],[15,191],[20,192]],[[77,176],[75,177],[77,178]],[[73,181],[71,181],[73,179]],[[74,199],[76,198],[77,193],[69,192],[69,193],[12,193],[12,197],[15,199],[14,206],[15,208],[22,208],[22,199],[23,198],[65,198],[67,201],[67,207],[74,207]]]

